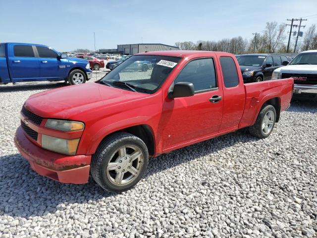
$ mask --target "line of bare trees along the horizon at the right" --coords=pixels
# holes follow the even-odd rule
[[[286,24],[278,24],[275,21],[266,22],[264,31],[256,38],[244,39],[241,36],[231,39],[221,39],[218,41],[191,41],[176,42],[175,46],[180,50],[199,51],[223,51],[235,55],[246,53],[286,53],[287,51]],[[289,53],[293,53],[295,39],[291,37]],[[303,37],[299,37],[296,52],[317,49],[316,25],[312,25],[305,32]]]

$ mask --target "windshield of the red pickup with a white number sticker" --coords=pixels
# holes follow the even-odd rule
[[[132,87],[137,92],[152,94],[180,60],[167,56],[132,56],[110,71],[100,83],[126,90]]]

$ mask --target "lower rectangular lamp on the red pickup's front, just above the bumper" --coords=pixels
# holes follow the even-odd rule
[[[79,143],[78,139],[62,139],[49,135],[42,135],[42,147],[65,155],[75,155]]]

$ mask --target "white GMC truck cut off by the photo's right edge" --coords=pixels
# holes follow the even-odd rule
[[[317,50],[298,54],[287,66],[274,70],[272,79],[294,79],[294,97],[317,98]]]

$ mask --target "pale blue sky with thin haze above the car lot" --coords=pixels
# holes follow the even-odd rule
[[[94,50],[94,32],[96,50],[141,42],[250,39],[263,33],[268,21],[289,24],[286,19],[297,17],[308,19],[305,29],[317,24],[317,0],[0,0],[0,42],[64,52]]]

